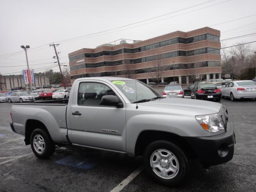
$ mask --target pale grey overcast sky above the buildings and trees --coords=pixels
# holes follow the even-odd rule
[[[188,8],[204,2],[207,3]],[[188,9],[168,14],[184,8]],[[26,56],[21,45],[30,45],[30,68],[41,70],[56,65],[53,63],[56,60],[52,59],[54,50],[48,44],[80,36],[84,37],[60,42],[57,50],[61,63],[68,62],[70,52],[95,48],[120,38],[146,40],[176,30],[187,32],[215,24],[218,25],[212,28],[221,31],[221,39],[256,33],[256,15],[251,16],[256,14],[255,8],[256,0],[1,0],[0,73],[18,74],[14,72],[26,69]],[[86,36],[163,14],[168,15]],[[246,16],[251,17],[219,24]],[[256,41],[256,36],[224,43],[232,46],[241,41]],[[251,46],[256,50],[256,43]],[[52,69],[58,71],[58,67]]]

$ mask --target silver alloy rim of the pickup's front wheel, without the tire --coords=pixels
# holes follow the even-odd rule
[[[176,156],[166,149],[158,149],[152,153],[150,166],[157,176],[164,179],[174,178],[180,167]]]

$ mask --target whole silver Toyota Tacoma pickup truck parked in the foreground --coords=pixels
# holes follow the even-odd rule
[[[69,99],[13,104],[11,116],[12,130],[25,136],[38,158],[51,156],[55,145],[143,155],[145,169],[164,185],[180,183],[192,158],[208,167],[234,154],[225,106],[163,98],[127,78],[80,78]]]

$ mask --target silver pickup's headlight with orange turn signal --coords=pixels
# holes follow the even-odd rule
[[[206,131],[216,133],[224,130],[224,123],[219,114],[196,116],[196,120]]]

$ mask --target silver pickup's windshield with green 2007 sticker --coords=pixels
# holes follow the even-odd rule
[[[150,100],[161,97],[150,86],[135,80],[115,80],[112,83],[133,103],[140,100]]]

